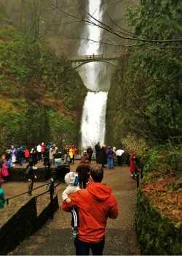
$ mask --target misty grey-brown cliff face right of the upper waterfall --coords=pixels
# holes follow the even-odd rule
[[[103,22],[112,29],[123,32],[124,34],[122,35],[127,37],[127,35],[132,31],[132,28],[127,22],[127,7],[132,7],[138,3],[139,0],[103,0]],[[108,31],[103,31],[102,41],[110,44],[103,44],[101,46],[104,54],[118,53],[122,55],[123,50],[126,50],[126,48],[115,46],[115,44],[128,45],[130,43],[127,39],[116,37]],[[105,64],[103,66],[102,74],[100,74],[100,83],[103,85],[103,90],[108,91],[108,89],[110,89],[111,76],[113,75],[114,70],[116,70],[116,67],[111,64]]]

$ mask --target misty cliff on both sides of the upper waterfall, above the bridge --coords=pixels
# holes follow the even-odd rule
[[[55,1],[50,1],[50,3]],[[103,21],[109,26],[129,29],[126,20],[126,8],[138,4],[138,0],[103,0]],[[58,1],[58,7],[76,16],[85,17],[84,10],[87,9],[88,0],[63,0]],[[39,22],[38,30],[40,39],[46,41],[57,53],[71,55],[79,49],[79,35],[82,35],[84,23],[78,22],[64,14],[47,0],[1,0],[0,12],[8,18],[7,22],[17,24],[20,29],[33,33],[33,26]],[[110,18],[111,19],[110,19]],[[104,36],[116,39],[114,35],[103,31]],[[43,37],[44,35],[44,37]],[[108,39],[104,39],[108,42]],[[111,41],[110,41],[111,42]],[[121,43],[121,39],[116,39]],[[103,45],[103,53],[120,52],[120,48]]]

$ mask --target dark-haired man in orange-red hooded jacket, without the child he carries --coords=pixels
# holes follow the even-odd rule
[[[74,207],[78,209],[79,236],[74,240],[76,255],[89,255],[90,249],[92,255],[103,255],[107,219],[116,219],[118,216],[118,207],[111,188],[101,183],[103,169],[92,167],[90,176],[91,182],[87,189],[71,194],[71,203],[62,203],[63,211],[71,212]]]

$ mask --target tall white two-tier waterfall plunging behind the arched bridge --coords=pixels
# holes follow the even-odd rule
[[[102,0],[89,0],[88,12],[97,20],[102,20],[102,12],[100,4]],[[92,18],[90,18],[92,19]],[[101,29],[97,26],[87,25],[84,31],[84,37],[100,41]],[[102,54],[102,48],[97,42],[86,42],[82,40],[79,47],[79,55]],[[94,146],[100,141],[104,143],[106,132],[106,102],[107,92],[100,91],[103,88],[99,84],[99,73],[104,70],[103,63],[92,62],[85,64],[79,69],[79,74],[82,77],[84,85],[92,90],[88,92],[84,100],[84,107],[82,113],[82,147]],[[96,91],[96,92],[94,92]]]

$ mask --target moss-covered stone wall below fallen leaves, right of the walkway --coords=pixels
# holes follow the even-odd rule
[[[182,255],[182,222],[173,222],[138,191],[136,230],[142,255]]]

